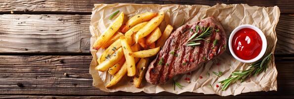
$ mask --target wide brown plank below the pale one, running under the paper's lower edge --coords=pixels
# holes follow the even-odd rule
[[[92,87],[89,75],[91,56],[16,56],[0,55],[0,95],[89,95],[140,96],[145,93],[106,93]],[[294,95],[294,57],[276,61],[278,91],[241,95]],[[64,75],[67,73],[66,75]],[[174,95],[163,92],[154,95]],[[198,96],[204,94],[183,93]]]

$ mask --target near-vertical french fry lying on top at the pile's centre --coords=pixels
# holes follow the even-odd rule
[[[132,52],[129,44],[127,44],[126,38],[121,37],[122,48],[124,50],[126,63],[127,65],[127,76],[134,76],[136,74],[136,64],[133,56],[128,55],[128,53]]]

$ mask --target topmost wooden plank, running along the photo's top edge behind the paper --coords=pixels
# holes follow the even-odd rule
[[[294,0],[1,0],[1,13],[31,13],[31,12],[82,12],[90,14],[94,3],[142,3],[142,4],[203,4],[216,3],[247,3],[257,6],[278,5],[282,13],[294,13]]]

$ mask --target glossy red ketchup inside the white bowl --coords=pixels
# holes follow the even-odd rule
[[[250,60],[260,53],[262,40],[256,31],[244,28],[237,31],[234,35],[232,48],[239,58]]]

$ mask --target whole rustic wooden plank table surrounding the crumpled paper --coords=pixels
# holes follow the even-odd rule
[[[275,52],[278,91],[228,97],[100,91],[92,87],[88,73],[92,59],[89,24],[94,3],[278,5],[281,10]],[[294,98],[294,15],[291,14],[294,14],[293,0],[1,0],[0,98]]]

